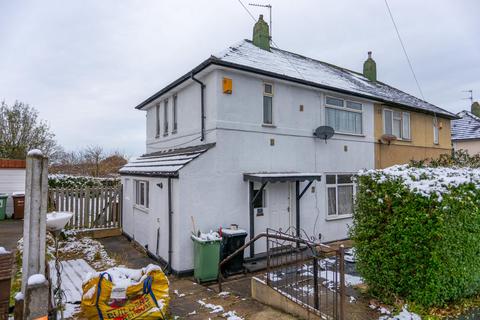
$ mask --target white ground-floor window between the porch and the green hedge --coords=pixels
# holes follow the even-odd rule
[[[351,173],[326,174],[327,219],[353,214],[355,183]]]

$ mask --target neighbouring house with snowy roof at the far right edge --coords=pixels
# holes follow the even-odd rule
[[[470,155],[480,153],[480,103],[474,102],[471,111],[457,114],[452,121],[452,145],[454,150],[466,150]]]

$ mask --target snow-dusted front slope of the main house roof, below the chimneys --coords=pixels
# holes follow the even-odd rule
[[[315,83],[329,87],[331,90],[340,89],[349,93],[360,94],[373,100],[390,102],[427,112],[435,112],[437,115],[449,118],[456,118],[453,113],[408,93],[379,81],[370,81],[361,73],[276,48],[266,51],[256,47],[249,40],[243,40],[214,55],[213,58],[300,81]]]

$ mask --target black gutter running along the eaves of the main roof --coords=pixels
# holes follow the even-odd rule
[[[334,91],[334,92],[343,93],[343,94],[347,94],[347,95],[350,95],[350,96],[359,97],[359,98],[363,98],[363,99],[374,100],[374,101],[383,103],[383,104],[391,106],[391,107],[415,110],[415,111],[425,113],[425,114],[436,114],[437,116],[442,117],[442,118],[446,118],[446,119],[460,119],[458,116],[453,115],[453,114],[452,115],[448,115],[448,114],[444,114],[444,113],[438,114],[438,113],[435,113],[433,111],[428,111],[428,110],[425,110],[425,109],[416,108],[416,107],[409,106],[409,105],[404,105],[404,104],[401,104],[401,103],[387,101],[387,100],[382,99],[382,98],[372,97],[372,96],[362,94],[362,93],[358,93],[358,92],[352,92],[352,91],[339,89],[339,88],[335,88],[335,87],[331,87],[331,86],[327,86],[327,85],[323,85],[323,84],[318,84],[318,83],[315,83],[315,82],[312,82],[312,81],[302,80],[302,79],[298,79],[298,78],[294,78],[294,77],[290,77],[290,76],[286,76],[286,75],[282,75],[282,74],[278,74],[278,73],[274,73],[274,72],[270,72],[270,71],[265,71],[265,70],[261,70],[261,69],[257,69],[257,68],[252,68],[252,67],[248,67],[248,66],[244,66],[244,65],[240,65],[240,64],[236,64],[236,63],[226,62],[226,61],[220,60],[220,59],[218,59],[214,56],[205,60],[200,65],[198,65],[196,68],[194,68],[191,72],[187,73],[186,75],[184,75],[184,76],[180,77],[179,79],[177,79],[176,81],[172,82],[171,84],[169,84],[168,86],[166,86],[165,88],[163,88],[162,90],[160,90],[159,92],[157,92],[156,94],[154,94],[153,96],[151,96],[150,98],[145,100],[144,102],[140,103],[135,108],[136,109],[143,108],[148,103],[154,101],[155,99],[157,99],[161,95],[165,94],[166,92],[170,91],[174,87],[180,85],[181,83],[183,83],[186,80],[188,80],[189,78],[191,78],[192,74],[197,74],[197,73],[204,70],[205,68],[207,68],[210,65],[217,65],[217,66],[232,68],[232,69],[236,69],[236,70],[240,70],[240,71],[252,72],[252,73],[268,76],[268,77],[271,77],[271,78],[276,78],[276,79],[281,79],[281,80],[286,80],[286,81],[306,85],[306,86],[309,86],[309,87]]]

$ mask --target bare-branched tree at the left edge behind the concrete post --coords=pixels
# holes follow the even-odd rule
[[[0,157],[25,159],[31,149],[55,156],[59,147],[48,124],[38,119],[38,112],[16,101],[13,106],[0,104]]]

